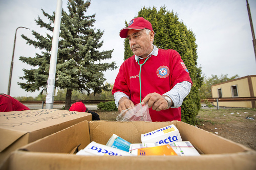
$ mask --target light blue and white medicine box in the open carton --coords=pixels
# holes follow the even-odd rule
[[[108,143],[106,143],[106,146],[129,152],[130,144],[130,142],[124,140],[116,134],[113,134]]]

